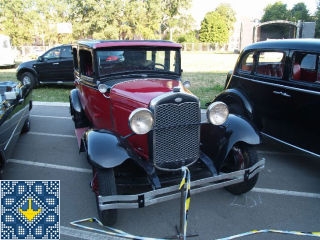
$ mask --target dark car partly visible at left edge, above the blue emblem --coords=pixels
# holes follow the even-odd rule
[[[31,91],[28,84],[0,82],[0,179],[20,134],[30,129]]]

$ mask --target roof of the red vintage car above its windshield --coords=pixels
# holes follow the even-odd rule
[[[181,48],[181,44],[165,40],[80,40],[79,45],[97,49],[106,47],[172,47]]]

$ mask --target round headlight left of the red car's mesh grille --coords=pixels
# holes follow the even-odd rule
[[[153,126],[153,116],[146,108],[137,108],[129,116],[129,126],[136,134],[146,134]]]

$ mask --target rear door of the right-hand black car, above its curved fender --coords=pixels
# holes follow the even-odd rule
[[[261,133],[274,138],[281,138],[287,121],[284,113],[288,101],[284,91],[286,54],[284,50],[251,51],[243,56],[237,70],[242,78],[238,81],[240,91],[253,109],[254,124]]]

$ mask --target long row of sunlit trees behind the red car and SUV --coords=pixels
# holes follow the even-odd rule
[[[15,46],[74,39],[161,39],[190,31],[192,0],[1,0],[0,31]],[[58,34],[71,23],[72,34]],[[172,38],[172,36],[170,35]]]

